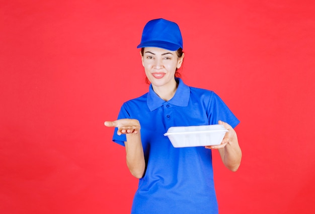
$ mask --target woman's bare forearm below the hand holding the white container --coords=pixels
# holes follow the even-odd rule
[[[242,151],[236,133],[224,148],[219,149],[219,153],[226,168],[233,172],[238,170],[241,164]]]

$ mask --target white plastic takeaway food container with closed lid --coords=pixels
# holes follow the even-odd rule
[[[174,147],[219,145],[228,130],[223,125],[171,127],[164,134]]]

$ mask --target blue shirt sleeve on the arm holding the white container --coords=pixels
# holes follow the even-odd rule
[[[218,121],[220,120],[228,123],[234,129],[234,127],[240,123],[223,100],[213,91],[209,101],[209,125],[218,124]]]

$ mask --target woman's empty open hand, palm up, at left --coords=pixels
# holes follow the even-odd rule
[[[140,123],[136,119],[120,119],[117,121],[105,121],[107,127],[117,127],[117,135],[121,134],[137,134],[140,132]]]

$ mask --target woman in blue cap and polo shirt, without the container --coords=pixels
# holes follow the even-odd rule
[[[231,171],[239,168],[242,152],[233,130],[239,120],[213,91],[175,77],[184,59],[176,23],[149,21],[137,48],[149,91],[125,102],[117,121],[105,122],[115,127],[113,141],[125,146],[127,166],[139,178],[131,213],[218,213],[211,150]],[[228,132],[216,146],[174,148],[164,136],[174,126],[217,123]]]

